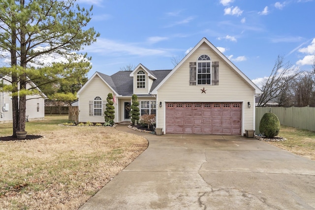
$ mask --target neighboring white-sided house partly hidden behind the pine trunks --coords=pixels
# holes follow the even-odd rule
[[[0,84],[10,83],[9,76],[0,75]],[[35,88],[35,84],[30,82],[27,88]],[[37,87],[35,88],[39,90]],[[39,90],[40,94],[27,95],[26,116],[28,120],[43,120],[45,117],[44,100],[47,96]],[[10,92],[0,91],[0,123],[12,122],[12,96]]]

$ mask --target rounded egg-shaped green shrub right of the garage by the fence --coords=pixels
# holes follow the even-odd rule
[[[280,131],[280,121],[277,115],[270,112],[265,113],[260,120],[259,131],[267,138],[277,136]]]

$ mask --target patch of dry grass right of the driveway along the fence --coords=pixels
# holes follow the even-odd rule
[[[282,125],[279,136],[286,138],[287,141],[268,143],[315,160],[315,132]]]

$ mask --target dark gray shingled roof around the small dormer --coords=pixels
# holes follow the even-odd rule
[[[108,76],[97,72],[108,85],[110,85],[119,95],[131,96],[133,94],[133,78],[130,77],[132,71],[118,71]],[[151,90],[154,90],[158,84],[171,72],[171,70],[150,70],[150,73],[157,79],[153,81]]]

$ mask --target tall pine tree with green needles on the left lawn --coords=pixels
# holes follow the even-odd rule
[[[91,69],[91,58],[80,51],[99,33],[88,28],[92,7],[80,8],[76,1],[1,0],[0,51],[9,67],[1,67],[0,74],[11,78],[6,90],[12,93],[14,137],[25,131],[26,96],[36,94],[36,87],[27,89],[28,83],[71,79]],[[57,61],[47,64],[52,57]]]

